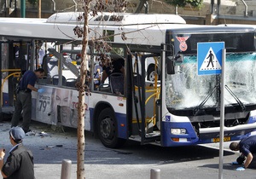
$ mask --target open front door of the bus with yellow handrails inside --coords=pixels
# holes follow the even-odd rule
[[[157,127],[156,101],[160,96],[158,78],[148,81],[147,60],[157,61],[159,55],[134,55],[132,57],[132,133],[141,136],[141,143],[160,141],[160,130]],[[158,64],[155,62],[154,64]],[[157,66],[155,66],[157,71]],[[155,75],[157,73],[155,72]]]

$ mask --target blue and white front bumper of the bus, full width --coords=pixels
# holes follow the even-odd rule
[[[162,123],[161,146],[176,147],[189,146],[202,143],[212,143],[219,141],[220,127],[202,128],[199,134],[195,133],[190,123]],[[186,134],[172,134],[172,129],[185,129]],[[234,127],[224,127],[224,141],[241,140],[245,135],[249,135],[256,129],[256,123],[241,124]]]

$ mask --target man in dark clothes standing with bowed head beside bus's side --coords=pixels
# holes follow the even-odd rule
[[[31,92],[36,91],[43,93],[44,89],[36,89],[34,85],[38,78],[43,78],[44,69],[38,68],[34,72],[26,71],[20,79],[19,87],[17,90],[17,99],[15,102],[15,113],[11,121],[11,127],[15,127],[20,122],[21,111],[23,110],[23,124],[22,129],[26,132],[29,131],[29,125],[32,115],[32,95]]]

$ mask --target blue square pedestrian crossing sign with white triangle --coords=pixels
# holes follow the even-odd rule
[[[197,43],[198,75],[221,73],[222,49],[224,49],[224,42]]]

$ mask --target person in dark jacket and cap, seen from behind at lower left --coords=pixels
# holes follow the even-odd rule
[[[8,179],[34,179],[33,156],[30,150],[22,144],[25,136],[20,127],[9,130],[9,141],[13,147],[9,151],[9,157],[4,163],[5,151],[0,148],[0,170],[3,178]]]

